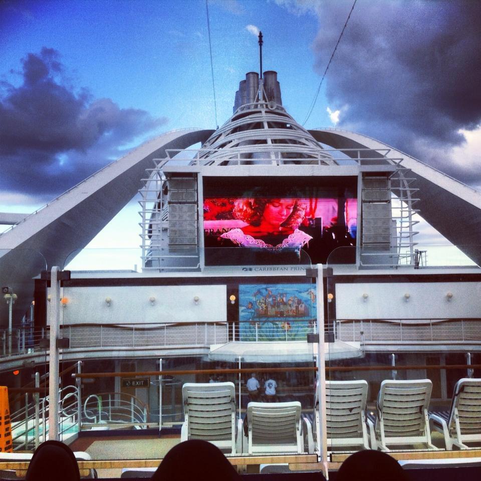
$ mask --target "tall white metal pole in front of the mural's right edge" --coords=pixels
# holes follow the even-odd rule
[[[324,346],[324,279],[322,277],[322,264],[317,265],[316,278],[316,297],[317,297],[317,332],[319,333],[319,342],[317,343],[317,376],[318,376],[318,393],[319,399],[319,435],[317,442],[319,445],[320,461],[324,465],[324,474],[328,478],[328,460],[327,460],[327,424],[326,424],[326,360]]]

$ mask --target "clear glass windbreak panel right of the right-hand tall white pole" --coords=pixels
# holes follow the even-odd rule
[[[349,266],[347,253],[340,251],[331,254],[326,266],[326,316],[335,332],[329,354],[343,343],[358,349],[358,355],[326,356],[331,459],[366,447],[410,456],[457,449],[451,406],[463,396],[478,396],[474,393],[481,386],[476,377],[481,360],[476,347],[481,340],[478,268],[457,262],[448,247],[437,256],[443,262],[432,263],[418,251],[410,265],[376,262],[369,269]],[[361,415],[347,405],[357,402],[356,392],[365,398]],[[471,421],[475,416],[464,414]],[[339,428],[347,427],[350,417],[359,421],[357,444]],[[473,432],[462,424],[460,430],[464,449],[481,445],[475,435],[468,442],[466,435]]]

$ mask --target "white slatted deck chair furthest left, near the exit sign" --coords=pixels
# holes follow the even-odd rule
[[[242,421],[236,429],[235,388],[231,382],[185,383],[182,386],[185,421],[180,440],[203,439],[231,454],[242,442]]]

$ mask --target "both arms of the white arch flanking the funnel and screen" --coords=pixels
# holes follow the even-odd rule
[[[69,254],[83,249],[142,187],[145,169],[153,166],[154,158],[166,157],[166,149],[203,143],[213,132],[177,130],[145,142],[0,235],[0,285],[12,287],[19,296],[16,319],[32,300],[32,278],[46,267],[63,267]],[[370,137],[339,129],[309,133],[333,148],[372,149],[368,155],[379,155],[381,164],[385,149],[390,149],[389,156],[402,157],[403,166],[416,175],[411,186],[419,189],[420,215],[481,265],[481,192]],[[8,322],[7,312],[2,304],[0,326]]]

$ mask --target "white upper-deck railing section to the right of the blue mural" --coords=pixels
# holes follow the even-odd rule
[[[481,341],[481,318],[337,319],[336,339],[356,342]]]

